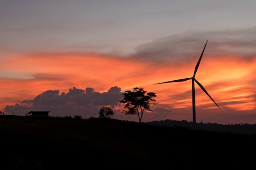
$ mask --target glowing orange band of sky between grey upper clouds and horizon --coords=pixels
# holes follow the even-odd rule
[[[192,77],[199,57],[153,62],[99,54],[15,55],[0,61],[1,110],[7,105],[20,104],[18,101],[34,99],[47,90],[68,93],[69,88],[90,87],[103,93],[114,86],[120,87],[121,92],[139,87],[157,95],[156,104],[151,106],[154,112],[145,113],[142,121],[192,121],[191,80],[153,84]],[[197,122],[256,123],[255,66],[256,56],[243,60],[243,56],[207,55],[205,52],[195,78],[221,110],[195,84]],[[24,110],[21,112],[24,114]],[[117,115],[118,119],[137,121],[136,116]]]

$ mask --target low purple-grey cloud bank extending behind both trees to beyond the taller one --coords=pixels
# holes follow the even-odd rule
[[[26,115],[29,111],[33,110],[46,110],[50,111],[50,116],[72,116],[82,115],[83,118],[98,117],[99,109],[102,106],[111,106],[114,110],[115,119],[123,119],[129,121],[138,121],[134,115],[123,115],[121,110],[124,108],[119,103],[123,99],[121,88],[114,86],[107,92],[95,92],[93,88],[87,87],[85,90],[76,87],[69,88],[69,92],[62,92],[59,90],[47,90],[40,93],[34,99],[17,101],[15,105],[7,105],[5,107],[5,114],[15,115],[21,113]],[[162,105],[164,106],[164,105]],[[160,108],[159,104],[152,103],[150,105],[154,110],[153,112],[145,112],[143,121],[162,120],[170,118],[171,110],[168,108]]]

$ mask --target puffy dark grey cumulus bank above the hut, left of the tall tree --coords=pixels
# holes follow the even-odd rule
[[[59,90],[48,90],[34,99],[18,101],[17,104],[6,106],[5,111],[11,115],[13,112],[25,115],[33,110],[47,110],[52,116],[74,116],[76,114],[86,117],[98,117],[102,106],[111,106],[113,109],[122,99],[121,88],[115,86],[107,92],[95,92],[93,88],[70,88],[69,92],[60,94]]]

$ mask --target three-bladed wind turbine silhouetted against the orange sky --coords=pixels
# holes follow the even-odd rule
[[[208,40],[206,41],[206,44],[207,44]],[[206,44],[204,45],[204,49],[206,47]],[[195,79],[195,74],[196,74],[196,71],[198,70],[198,66],[200,64],[200,61],[202,59],[202,56],[203,56],[203,53],[204,53],[204,49],[202,51],[202,54],[198,60],[198,63],[196,64],[195,66],[195,71],[194,71],[194,75],[193,77],[190,77],[190,78],[185,78],[185,79],[176,79],[176,80],[172,80],[172,81],[169,81],[169,82],[162,82],[162,83],[156,83],[156,84],[163,84],[163,83],[172,83],[172,82],[184,82],[186,80],[189,80],[189,79],[192,79],[192,105],[193,105],[193,127],[194,129],[196,130],[196,121],[195,121],[195,82],[198,84],[198,86],[200,86],[200,88],[202,88],[202,90],[204,91],[204,93],[206,93],[210,99],[214,102],[213,98],[211,98],[211,96],[209,95],[209,93],[207,93],[207,91],[205,90],[205,88],[202,86],[202,84],[200,84],[196,79]],[[214,102],[217,106],[218,104],[216,102]],[[220,108],[218,106],[218,108]]]

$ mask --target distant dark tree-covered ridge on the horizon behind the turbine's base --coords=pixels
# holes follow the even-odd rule
[[[157,126],[167,126],[167,127],[184,127],[193,129],[193,122],[190,121],[178,121],[178,120],[161,120],[161,121],[150,121],[146,122],[146,124],[150,125],[157,125]],[[256,124],[217,124],[217,123],[197,123],[196,124],[197,130],[209,130],[209,131],[216,131],[216,132],[230,132],[230,133],[237,133],[237,134],[244,134],[244,135],[256,135]]]

